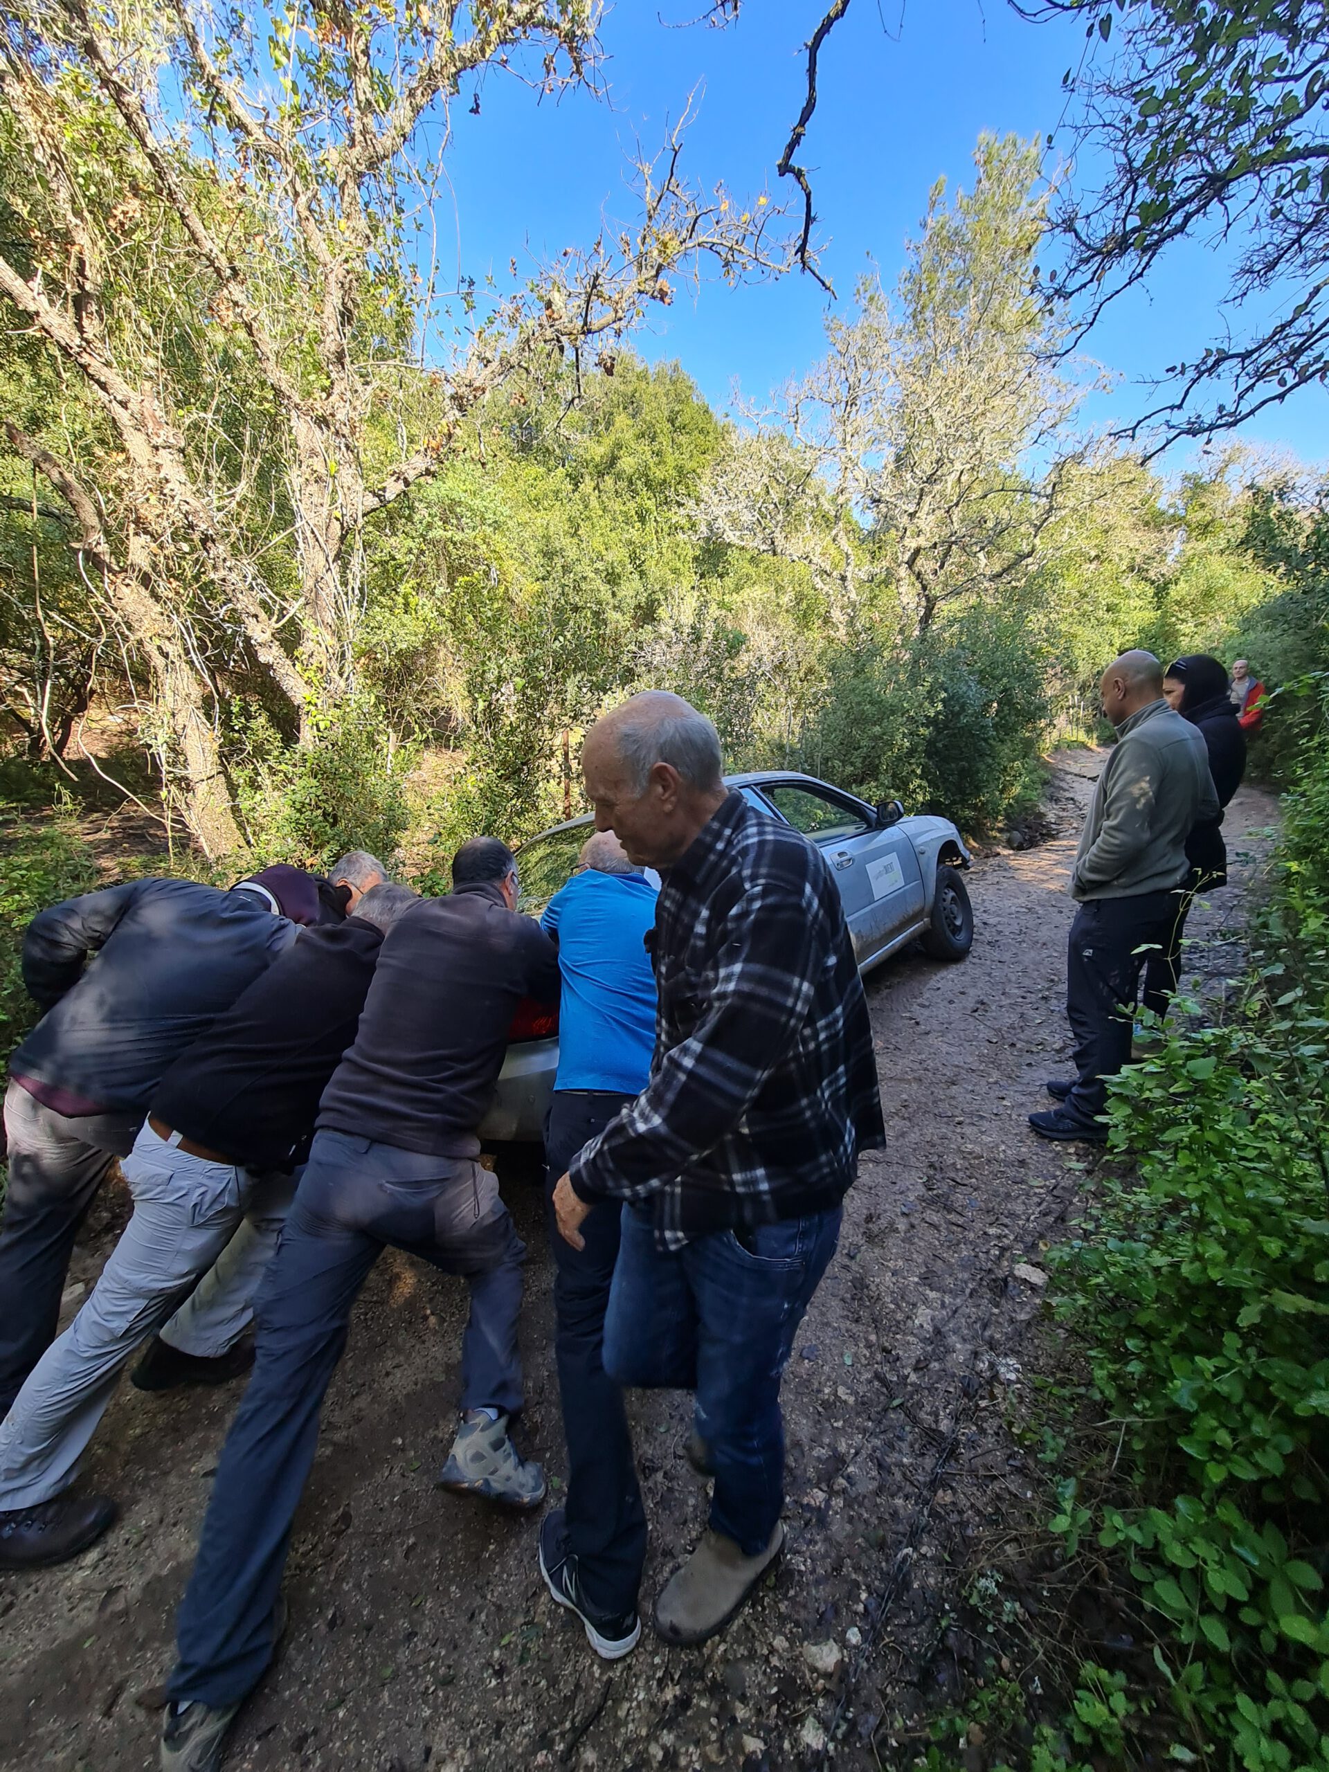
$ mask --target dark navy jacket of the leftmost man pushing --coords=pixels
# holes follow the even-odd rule
[[[142,1113],[167,1065],[296,934],[252,893],[193,881],[66,898],[23,936],[23,983],[46,1014],[9,1069]]]

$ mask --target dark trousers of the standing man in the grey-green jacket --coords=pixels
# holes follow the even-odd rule
[[[1090,898],[1070,925],[1067,944],[1067,1019],[1076,1038],[1076,1086],[1065,1109],[1077,1120],[1102,1113],[1108,1090],[1131,1061],[1131,1026],[1139,975],[1150,955],[1168,960],[1185,921],[1184,890],[1134,898]]]

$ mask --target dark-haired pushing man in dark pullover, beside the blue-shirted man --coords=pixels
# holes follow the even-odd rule
[[[296,1201],[255,1304],[257,1359],[207,1506],[179,1613],[161,1765],[209,1772],[268,1666],[291,1522],[351,1306],[392,1244],[462,1274],[462,1421],[439,1485],[516,1508],[544,1473],[509,1439],[521,1409],[525,1247],[475,1161],[523,998],[553,1003],[558,955],[516,914],[517,868],[491,836],[462,843],[452,895],[415,905],[383,943],[354,1045],[338,1065]]]

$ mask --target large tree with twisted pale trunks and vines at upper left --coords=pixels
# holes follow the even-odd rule
[[[112,484],[83,484],[41,436],[14,427],[9,441],[74,514],[80,558],[151,670],[172,780],[211,854],[237,836],[225,673],[260,677],[276,718],[315,742],[328,707],[356,693],[374,530],[494,390],[615,340],[703,260],[730,280],[790,262],[766,198],[741,207],[682,181],[675,131],[636,168],[633,227],[601,229],[507,296],[439,291],[415,227],[454,103],[486,71],[599,96],[599,11],[11,12],[0,296],[82,379]]]

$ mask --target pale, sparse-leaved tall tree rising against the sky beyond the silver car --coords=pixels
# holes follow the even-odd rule
[[[1038,152],[982,136],[973,191],[929,197],[895,299],[868,280],[829,354],[785,390],[780,429],[735,436],[698,505],[707,537],[803,565],[849,638],[1014,588],[1083,447],[1079,392],[1049,367],[1058,310],[1035,292]]]

